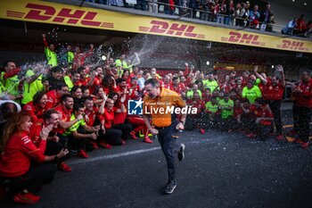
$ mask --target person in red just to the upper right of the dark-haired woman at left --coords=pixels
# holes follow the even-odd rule
[[[65,84],[59,84],[56,86],[56,89],[47,92],[46,109],[53,108],[57,104],[60,104],[61,97],[66,94],[69,94],[69,88]]]

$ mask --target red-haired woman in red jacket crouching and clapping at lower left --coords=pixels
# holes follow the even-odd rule
[[[36,162],[47,162],[68,154],[68,151],[62,150],[51,156],[44,155],[46,138],[53,127],[48,126],[42,129],[40,135],[42,141],[37,147],[28,136],[31,125],[29,113],[19,112],[9,121],[5,129],[7,134],[2,140],[4,152],[0,155],[0,177],[10,181],[8,186],[15,194],[13,200],[16,203],[36,204],[40,196],[32,192],[53,180],[55,165],[46,163],[30,167],[32,159]]]

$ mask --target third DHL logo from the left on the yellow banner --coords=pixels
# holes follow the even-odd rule
[[[259,36],[241,32],[229,32],[230,37],[221,37],[222,41],[248,44],[253,46],[266,46],[266,43],[258,41]]]

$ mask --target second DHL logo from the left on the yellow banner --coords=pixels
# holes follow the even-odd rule
[[[169,24],[167,21],[151,21],[152,27],[139,27],[140,31],[152,32],[158,34],[168,34],[177,37],[197,37],[205,38],[203,34],[193,33],[194,26],[186,24]]]

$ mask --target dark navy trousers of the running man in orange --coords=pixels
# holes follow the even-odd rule
[[[169,127],[158,129],[158,141],[161,146],[162,153],[165,155],[168,169],[168,182],[176,180],[175,155],[179,146],[177,141],[177,126],[178,122],[173,122]]]

